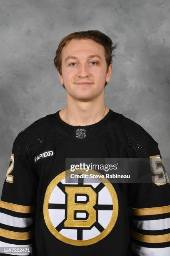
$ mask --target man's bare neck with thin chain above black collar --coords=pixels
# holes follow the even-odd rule
[[[109,108],[104,101],[100,105],[89,104],[90,102],[80,102],[86,104],[70,105],[60,111],[60,118],[70,125],[91,125],[99,122],[109,112]],[[69,123],[70,121],[70,123]]]

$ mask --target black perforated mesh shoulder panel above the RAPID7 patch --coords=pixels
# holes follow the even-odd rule
[[[40,118],[21,131],[15,138],[15,154],[20,155],[23,159],[28,151],[38,148],[49,140],[56,141],[61,138],[63,135],[58,133],[48,122],[47,117]]]

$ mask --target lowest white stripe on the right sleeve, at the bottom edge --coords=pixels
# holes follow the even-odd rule
[[[148,248],[143,246],[138,246],[135,243],[131,243],[131,247],[134,253],[139,256],[166,256],[170,255],[170,247],[161,248]]]

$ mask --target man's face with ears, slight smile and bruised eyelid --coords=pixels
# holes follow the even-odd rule
[[[71,97],[89,101],[99,96],[105,82],[110,81],[112,64],[106,71],[105,49],[101,44],[91,39],[72,39],[62,49],[62,75],[58,75]],[[81,82],[91,84],[78,84]]]

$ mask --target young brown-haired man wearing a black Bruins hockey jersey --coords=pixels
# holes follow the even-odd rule
[[[34,256],[170,255],[170,185],[158,143],[105,105],[114,49],[100,31],[60,42],[54,63],[67,106],[14,141],[0,201],[1,247],[32,246]],[[153,182],[71,184],[68,158],[149,158]]]

